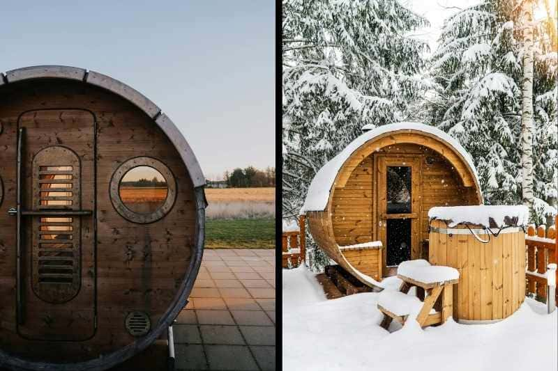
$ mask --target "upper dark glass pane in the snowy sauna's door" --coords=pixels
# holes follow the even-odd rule
[[[388,166],[386,174],[388,214],[411,212],[411,167]]]

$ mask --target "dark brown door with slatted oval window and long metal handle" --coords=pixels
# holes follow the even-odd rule
[[[96,329],[95,117],[23,113],[17,151],[17,331],[86,340]]]

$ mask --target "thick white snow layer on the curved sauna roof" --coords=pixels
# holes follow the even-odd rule
[[[367,125],[368,126],[368,125]],[[368,128],[368,127],[366,127]],[[319,171],[316,173],[314,179],[310,183],[310,188],[308,189],[308,194],[306,194],[306,200],[301,209],[301,214],[307,211],[322,211],[325,210],[327,206],[327,201],[329,199],[329,192],[335,182],[335,177],[340,171],[340,168],[345,164],[345,161],[351,157],[354,151],[356,151],[361,145],[374,139],[377,136],[386,134],[388,132],[399,132],[403,130],[415,130],[417,132],[424,132],[437,136],[442,141],[450,145],[456,152],[458,152],[465,161],[467,165],[472,169],[475,180],[478,184],[478,174],[476,173],[476,168],[473,164],[473,159],[469,153],[463,148],[458,141],[453,139],[448,134],[442,132],[442,130],[436,127],[425,125],[421,123],[396,123],[389,125],[382,125],[368,132],[361,134],[354,141],[349,143],[344,150],[338,153],[333,159],[328,161]]]

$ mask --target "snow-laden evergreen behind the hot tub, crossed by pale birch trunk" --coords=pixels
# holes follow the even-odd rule
[[[488,0],[446,19],[431,74],[430,120],[471,153],[487,204],[522,203],[522,3]],[[557,54],[548,22],[533,27],[534,214],[549,223],[557,199]]]

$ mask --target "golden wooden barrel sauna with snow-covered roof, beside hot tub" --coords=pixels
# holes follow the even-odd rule
[[[482,202],[473,161],[455,139],[397,123],[364,132],[319,169],[301,213],[317,245],[372,286],[427,255],[431,207]]]

